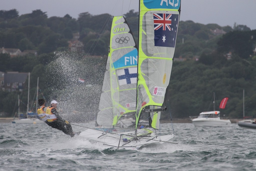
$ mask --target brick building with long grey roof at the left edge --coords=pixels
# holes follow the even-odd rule
[[[0,72],[0,74],[0,90],[8,92],[23,91],[28,77],[27,72]]]

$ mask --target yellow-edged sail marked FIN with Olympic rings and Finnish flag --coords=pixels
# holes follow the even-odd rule
[[[137,60],[137,47],[125,18],[113,17],[98,125],[116,126],[122,116],[135,113]]]

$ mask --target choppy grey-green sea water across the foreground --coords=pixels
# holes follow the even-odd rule
[[[86,125],[86,124],[85,124]],[[46,124],[0,123],[0,170],[255,170],[256,130],[174,123],[171,142],[116,150]],[[170,123],[161,124],[172,134]],[[73,125],[74,131],[85,130]]]

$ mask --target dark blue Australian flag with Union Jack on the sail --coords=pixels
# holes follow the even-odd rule
[[[175,47],[179,14],[153,14],[155,46]]]

